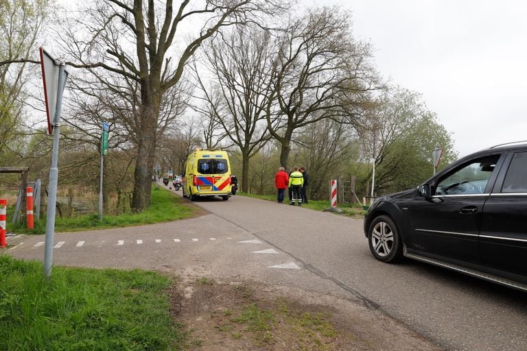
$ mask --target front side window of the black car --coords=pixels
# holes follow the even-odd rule
[[[484,193],[500,155],[471,160],[439,179],[435,195]]]

